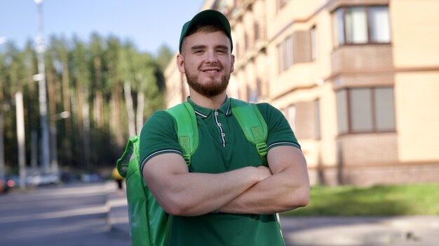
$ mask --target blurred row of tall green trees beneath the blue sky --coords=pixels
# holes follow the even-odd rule
[[[147,117],[165,106],[163,70],[173,53],[162,45],[154,57],[131,41],[96,33],[88,42],[51,36],[47,43],[47,115],[59,166],[84,171],[114,166],[128,137],[140,134]],[[2,46],[0,161],[8,173],[17,173],[16,92],[23,95],[26,162],[39,166],[39,87],[33,76],[38,61],[32,41],[21,50],[14,43]],[[60,117],[62,112],[69,117]]]

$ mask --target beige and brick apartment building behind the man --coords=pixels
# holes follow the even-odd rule
[[[439,1],[205,1],[231,22],[228,94],[283,112],[312,184],[439,182]],[[188,95],[166,70],[168,106]]]

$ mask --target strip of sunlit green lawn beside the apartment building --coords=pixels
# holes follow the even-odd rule
[[[439,183],[311,187],[305,208],[283,216],[439,215]]]

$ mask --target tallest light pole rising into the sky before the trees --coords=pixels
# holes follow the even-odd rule
[[[34,0],[36,3],[37,15],[36,22],[38,24],[38,36],[36,37],[36,52],[38,53],[38,73],[40,79],[38,83],[39,89],[39,108],[40,108],[40,127],[41,127],[41,168],[43,172],[50,170],[50,147],[49,147],[49,131],[47,120],[47,92],[46,92],[46,67],[44,66],[44,37],[43,37],[43,0]]]

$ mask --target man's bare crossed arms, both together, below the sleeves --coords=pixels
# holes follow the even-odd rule
[[[226,173],[189,173],[179,154],[147,161],[142,174],[154,197],[171,215],[196,216],[212,211],[269,214],[309,203],[309,178],[302,151],[273,147],[269,168],[239,168]]]

